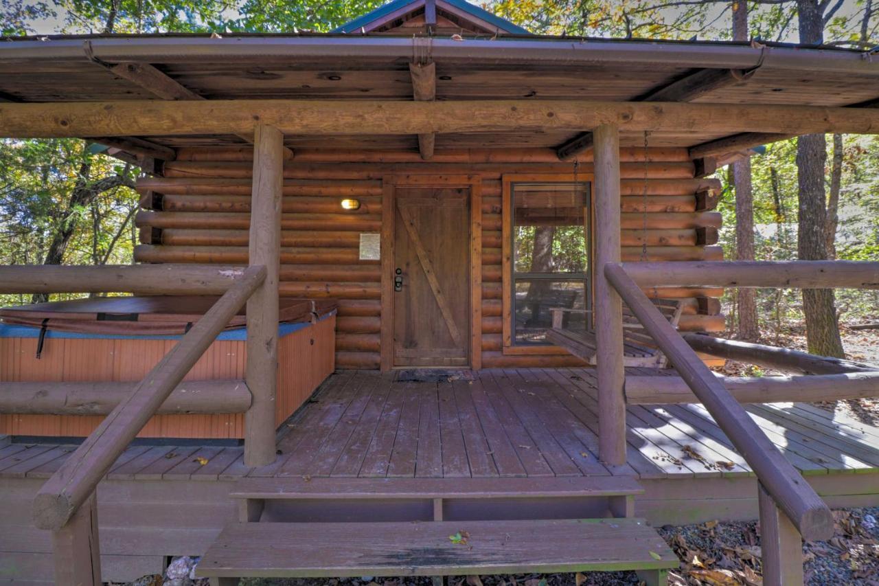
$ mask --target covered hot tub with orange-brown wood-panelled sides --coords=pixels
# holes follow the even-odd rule
[[[0,382],[139,381],[218,297],[103,297],[0,309]],[[275,424],[335,369],[336,304],[281,299]],[[244,309],[185,380],[244,377]],[[0,414],[0,435],[88,436],[100,415]],[[139,437],[243,438],[243,414],[160,414]]]

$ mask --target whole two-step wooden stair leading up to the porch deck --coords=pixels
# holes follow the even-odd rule
[[[643,519],[628,477],[246,479],[199,563],[241,577],[479,575],[636,570],[665,583],[679,561]],[[460,536],[460,538],[459,538]]]

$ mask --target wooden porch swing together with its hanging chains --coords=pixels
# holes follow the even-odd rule
[[[641,241],[641,260],[647,261],[647,177],[648,177],[648,131],[644,131],[644,184],[643,184],[643,226]],[[577,181],[578,161],[574,160],[574,181]],[[683,310],[683,304],[679,299],[663,299],[657,297],[657,289],[653,288],[653,304],[656,305],[665,319],[669,323],[678,328],[680,314]],[[570,354],[585,360],[586,363],[594,366],[596,364],[596,355],[598,354],[598,337],[594,329],[594,320],[585,320],[587,326],[585,330],[570,330],[566,328],[570,314],[592,313],[592,310],[579,310],[566,307],[553,307],[549,310],[552,316],[552,326],[546,332],[548,341],[556,344],[560,348],[566,349]],[[628,308],[625,302],[622,303],[622,342],[623,342],[623,366],[625,367],[644,367],[644,368],[665,368],[668,365],[668,359],[660,350],[653,338],[647,333],[641,322],[638,321],[635,314]]]

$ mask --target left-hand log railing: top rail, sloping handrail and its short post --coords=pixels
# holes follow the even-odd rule
[[[0,282],[3,283],[0,291],[3,292],[134,291],[166,295],[222,292],[222,297],[140,383],[113,387],[117,390],[113,399],[117,404],[113,410],[35,496],[34,524],[53,532],[56,583],[101,583],[98,482],[149,419],[169,408],[166,401],[229,320],[263,284],[265,275],[264,266],[189,265],[176,270],[170,266],[0,267]],[[235,387],[232,392],[226,392],[229,406],[224,408],[246,409],[249,403],[240,396],[240,387],[247,391],[244,382],[221,383]],[[22,387],[18,390],[27,392],[28,389]],[[89,389],[80,391],[89,392]],[[170,407],[173,407],[174,400],[171,399]]]

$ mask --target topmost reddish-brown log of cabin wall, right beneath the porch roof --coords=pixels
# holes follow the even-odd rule
[[[421,156],[405,150],[364,149],[296,149],[294,160],[300,163],[420,163]],[[679,147],[650,148],[650,161],[688,161],[686,149]],[[253,149],[247,147],[185,147],[178,150],[180,161],[252,161]],[[592,161],[592,153],[577,157],[580,163]],[[643,162],[641,147],[622,147],[620,160]],[[557,163],[555,149],[444,149],[435,153],[433,163]]]

